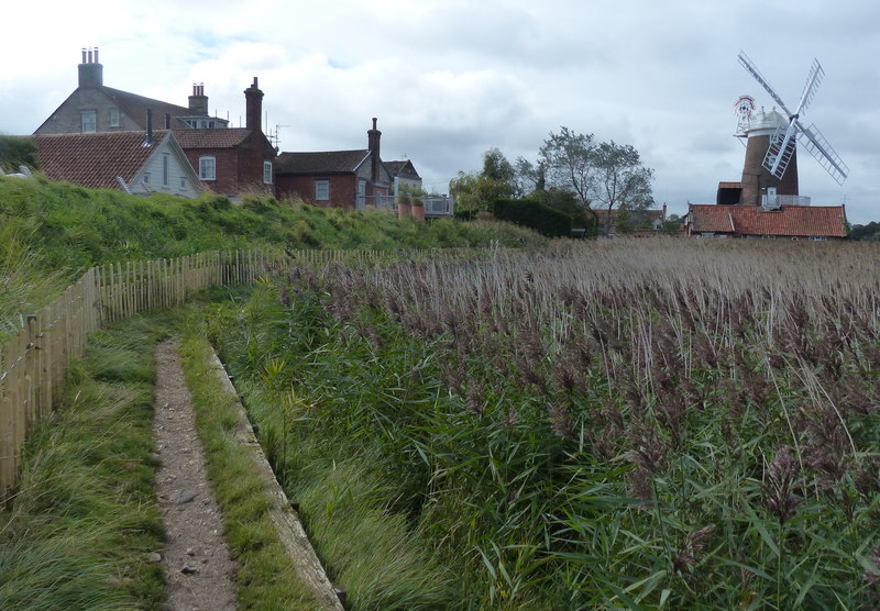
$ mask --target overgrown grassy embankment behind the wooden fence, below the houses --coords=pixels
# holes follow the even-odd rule
[[[44,178],[0,177],[0,333],[92,265],[169,258],[213,249],[444,248],[529,246],[546,241],[507,223],[398,221],[385,212],[346,212],[274,199],[233,205],[138,198]],[[14,322],[13,322],[14,324]],[[2,337],[2,335],[0,335]]]

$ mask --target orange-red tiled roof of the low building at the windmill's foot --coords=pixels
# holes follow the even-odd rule
[[[692,203],[688,212],[691,233],[778,235],[784,237],[845,237],[843,205],[758,205]]]

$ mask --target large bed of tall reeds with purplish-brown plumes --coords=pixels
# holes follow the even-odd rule
[[[669,240],[298,267],[216,340],[277,393],[290,493],[301,440],[328,474],[370,465],[451,607],[866,607],[878,259]]]

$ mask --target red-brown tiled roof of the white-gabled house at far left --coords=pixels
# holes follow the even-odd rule
[[[153,133],[156,143],[169,132]],[[117,176],[131,182],[154,146],[144,146],[144,132],[44,134],[26,136],[36,145],[40,169],[53,180],[92,189],[116,189]]]

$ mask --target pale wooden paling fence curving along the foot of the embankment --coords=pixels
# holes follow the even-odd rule
[[[334,256],[321,253],[294,256],[314,263]],[[286,257],[202,253],[94,267],[54,303],[28,315],[23,329],[0,345],[0,500],[18,481],[28,433],[52,410],[70,359],[82,355],[89,333],[108,321],[179,306],[207,287],[252,284]]]

